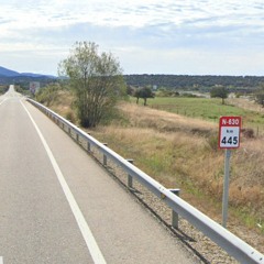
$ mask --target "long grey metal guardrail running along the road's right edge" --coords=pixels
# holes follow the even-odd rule
[[[108,146],[106,146],[106,144],[97,141],[91,135],[87,134],[86,132],[70,123],[68,120],[62,118],[54,111],[32,99],[28,98],[26,100],[36,108],[38,108],[41,111],[43,111],[51,119],[53,119],[57,124],[61,124],[64,130],[67,130],[68,133],[72,134],[72,132],[74,132],[76,134],[75,140],[77,142],[80,138],[82,138],[87,142],[88,152],[91,151],[92,145],[96,146],[103,155],[105,165],[107,164],[107,158],[111,158],[116,164],[121,166],[124,172],[128,173],[129,185],[132,185],[132,179],[136,179],[157,197],[161,197],[163,201],[172,208],[176,216],[179,215],[185,218],[189,223],[191,223],[205,235],[207,235],[215,243],[221,246],[229,255],[233,256],[237,261],[242,264],[264,264],[264,255],[261,252],[256,251],[243,240],[229,232],[222,226],[215,222],[209,217],[197,210],[195,207],[190,206],[188,202],[179,198],[177,195],[175,195],[178,190],[173,191],[165,188],[160,183],[150,177],[147,174],[135,167],[131,163],[131,161],[127,161],[125,158],[110,150]]]

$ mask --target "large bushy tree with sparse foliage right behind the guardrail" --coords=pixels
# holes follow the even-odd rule
[[[118,59],[111,53],[99,54],[98,45],[91,42],[76,42],[69,56],[61,62],[58,73],[69,78],[85,128],[96,127],[125,95]]]

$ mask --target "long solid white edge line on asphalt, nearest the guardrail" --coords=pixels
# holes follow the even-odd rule
[[[56,162],[56,160],[55,160],[55,157],[54,157],[50,146],[47,145],[47,143],[46,143],[42,132],[40,131],[37,124],[33,120],[31,113],[29,112],[29,110],[26,109],[26,107],[24,106],[22,100],[20,100],[20,102],[23,106],[23,108],[25,109],[26,113],[29,114],[33,125],[35,127],[35,130],[36,130],[37,134],[41,138],[41,141],[42,141],[42,143],[43,143],[43,145],[44,145],[44,147],[46,150],[46,153],[47,153],[47,155],[50,157],[50,161],[51,161],[51,163],[53,165],[53,168],[54,168],[54,170],[55,170],[55,173],[57,175],[58,182],[59,182],[59,184],[61,184],[61,186],[62,186],[62,188],[64,190],[64,194],[65,194],[65,196],[66,196],[66,198],[68,200],[70,209],[72,209],[72,211],[73,211],[73,213],[75,216],[75,219],[76,219],[76,221],[77,221],[77,223],[79,226],[79,229],[81,231],[81,234],[82,234],[82,237],[85,239],[85,242],[86,242],[86,244],[88,246],[88,250],[89,250],[89,252],[91,254],[91,257],[92,257],[95,264],[107,264],[107,262],[105,261],[105,257],[103,257],[103,255],[102,255],[102,253],[101,253],[101,251],[100,251],[100,249],[99,249],[99,246],[98,246],[98,244],[96,242],[96,239],[94,238],[94,235],[91,233],[91,230],[90,230],[88,223],[86,222],[85,217],[81,213],[81,211],[79,209],[79,206],[77,205],[77,202],[76,202],[76,200],[74,198],[74,195],[72,194],[72,191],[70,191],[70,189],[69,189],[69,187],[68,187],[68,185],[67,185],[67,183],[66,183],[66,180],[65,180],[65,178],[63,176],[62,170],[58,167],[58,164],[57,164],[57,162]],[[1,264],[1,262],[0,262],[0,264]]]

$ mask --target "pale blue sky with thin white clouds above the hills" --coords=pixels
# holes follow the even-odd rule
[[[264,76],[263,0],[0,0],[0,65],[57,74],[76,41],[124,74]]]

